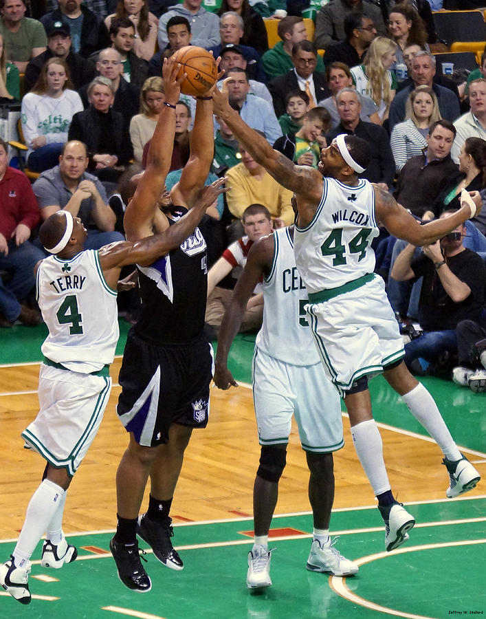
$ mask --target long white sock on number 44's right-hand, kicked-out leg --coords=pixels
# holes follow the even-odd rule
[[[420,422],[434,441],[439,445],[443,455],[453,462],[462,458],[461,452],[454,443],[448,426],[439,413],[434,398],[419,382],[417,387],[402,396],[410,413]]]

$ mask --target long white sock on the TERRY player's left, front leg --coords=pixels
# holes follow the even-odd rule
[[[34,492],[27,506],[27,513],[25,514],[25,521],[19,535],[19,541],[12,553],[15,565],[20,565],[21,561],[28,561],[30,559],[38,541],[52,521],[59,501],[64,494],[65,490],[57,486],[57,484],[53,484],[49,479],[44,479]]]

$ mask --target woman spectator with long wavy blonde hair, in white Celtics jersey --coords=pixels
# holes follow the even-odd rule
[[[396,51],[397,45],[393,41],[377,36],[368,47],[364,63],[351,69],[356,90],[373,99],[382,122],[388,118],[390,103],[397,91],[395,72],[390,71],[397,60]]]

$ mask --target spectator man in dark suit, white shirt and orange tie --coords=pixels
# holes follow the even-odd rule
[[[318,53],[311,41],[296,43],[292,47],[291,59],[294,68],[274,78],[268,84],[277,118],[285,114],[285,96],[291,90],[300,89],[307,92],[310,107],[316,107],[322,99],[331,96],[325,74],[315,71]]]

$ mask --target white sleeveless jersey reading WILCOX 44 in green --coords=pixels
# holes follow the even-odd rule
[[[370,182],[356,186],[323,179],[322,197],[311,223],[295,227],[294,252],[309,293],[342,286],[373,273],[371,241],[379,235],[375,192]]]

